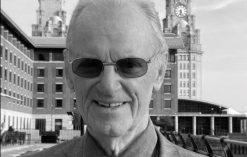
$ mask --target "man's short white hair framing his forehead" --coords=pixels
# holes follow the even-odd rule
[[[150,22],[150,25],[153,29],[154,32],[154,37],[157,39],[159,47],[157,48],[158,50],[155,51],[155,54],[157,55],[157,62],[159,65],[163,65],[164,63],[167,63],[167,52],[168,52],[168,47],[166,44],[166,41],[163,37],[163,32],[161,29],[161,24],[158,16],[158,12],[155,10],[154,3],[151,2],[150,0],[79,0],[75,10],[72,14],[70,24],[69,24],[69,29],[68,29],[68,34],[67,34],[67,40],[66,40],[66,46],[67,49],[70,49],[70,45],[72,42],[72,30],[73,27],[75,26],[76,19],[78,16],[83,12],[83,10],[90,6],[90,5],[100,5],[103,4],[104,2],[106,3],[114,3],[114,4],[123,4],[123,3],[130,3],[134,4],[137,6],[140,11],[144,14],[145,17],[147,17],[148,22]]]

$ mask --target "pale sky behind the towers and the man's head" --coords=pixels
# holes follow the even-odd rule
[[[66,0],[67,21],[78,0]],[[153,0],[160,18],[165,0]],[[1,0],[1,9],[27,34],[38,0]],[[201,31],[202,100],[247,113],[247,0],[192,0]]]

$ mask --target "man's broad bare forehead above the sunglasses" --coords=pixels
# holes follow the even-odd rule
[[[98,51],[124,51],[122,55],[128,56],[133,50],[140,51],[138,55],[144,51],[152,53],[154,46],[150,22],[135,5],[89,5],[78,15],[72,29],[71,47],[79,56]]]

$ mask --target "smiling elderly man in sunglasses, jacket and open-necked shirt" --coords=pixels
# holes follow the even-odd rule
[[[31,156],[200,156],[168,142],[149,118],[152,92],[163,82],[167,46],[148,0],[79,1],[64,55],[87,133]]]

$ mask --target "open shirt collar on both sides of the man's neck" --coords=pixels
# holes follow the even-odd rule
[[[107,157],[107,154],[96,140],[86,133],[83,143],[83,157]],[[157,134],[155,132],[152,121],[149,119],[148,126],[136,140],[123,151],[119,157],[151,157],[157,143]]]

